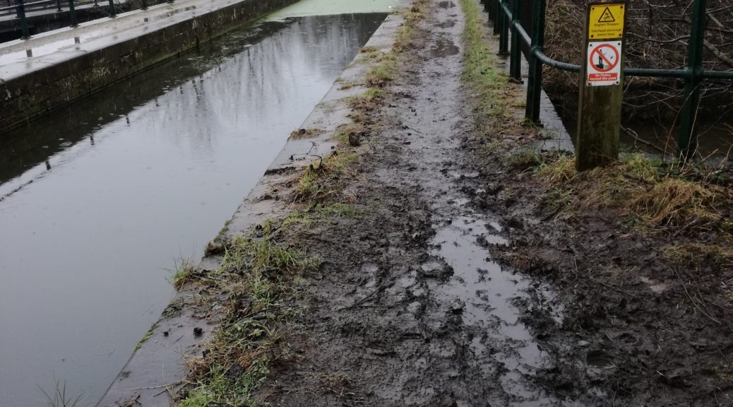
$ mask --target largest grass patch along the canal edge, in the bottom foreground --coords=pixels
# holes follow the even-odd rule
[[[279,333],[279,326],[295,316],[286,300],[294,293],[288,282],[319,266],[317,258],[271,235],[228,241],[218,270],[199,283],[229,299],[205,356],[186,361],[194,387],[178,406],[256,406],[252,394],[273,363],[288,357]]]

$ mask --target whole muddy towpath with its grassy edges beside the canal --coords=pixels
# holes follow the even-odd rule
[[[229,225],[207,247],[216,271],[181,280],[224,315],[187,362],[182,405],[733,405],[729,304],[670,311],[692,298],[682,286],[591,274],[630,248],[632,273],[670,237],[547,204],[537,166],[567,155],[521,125],[481,7],[406,4],[391,43],[343,78],[353,93],[329,109],[347,121],[293,133],[331,131],[330,150],[270,172],[257,202],[281,216]],[[609,235],[636,243],[600,248]]]

